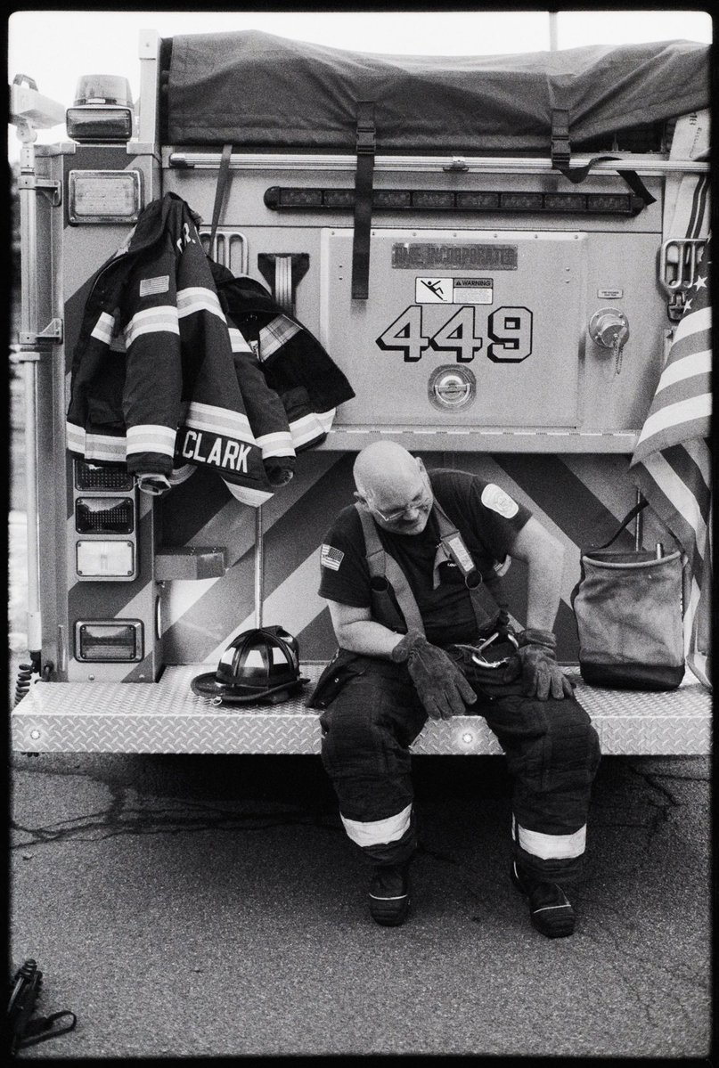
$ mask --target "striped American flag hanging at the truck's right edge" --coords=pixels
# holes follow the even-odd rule
[[[685,657],[712,689],[712,307],[709,244],[698,266],[646,421],[631,477],[686,555]]]

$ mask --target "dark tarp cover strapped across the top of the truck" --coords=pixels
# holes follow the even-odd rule
[[[462,44],[458,42],[458,44]],[[375,100],[377,152],[547,152],[554,108],[572,147],[708,107],[709,46],[591,45],[510,56],[380,56],[248,30],[179,34],[168,143],[354,152]]]

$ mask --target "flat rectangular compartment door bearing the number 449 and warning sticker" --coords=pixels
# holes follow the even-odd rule
[[[366,301],[351,248],[323,232],[322,340],[357,394],[343,421],[577,425],[585,234],[375,230]]]

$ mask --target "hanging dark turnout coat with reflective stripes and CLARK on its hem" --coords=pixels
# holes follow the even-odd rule
[[[89,461],[126,462],[141,488],[209,468],[237,500],[260,505],[272,486],[197,218],[174,193],[151,202],[92,279],[67,444]]]

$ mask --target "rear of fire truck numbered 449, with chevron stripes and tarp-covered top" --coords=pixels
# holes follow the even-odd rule
[[[387,57],[248,31],[140,34],[139,99],[78,73],[69,106],[19,75],[28,643],[20,752],[317,753],[307,706],[335,641],[323,537],[357,452],[397,441],[479,474],[565,547],[560,661],[609,754],[704,754],[709,694],[590,687],[570,593],[582,548],[637,490],[629,461],[708,218],[708,48]],[[67,140],[35,144],[66,124]],[[68,447],[91,281],[173,193],[204,251],[249,277],[353,396],[291,481],[238,501],[185,438],[189,478],[151,496]],[[624,545],[671,535],[646,511]],[[621,544],[621,543],[620,543]],[[523,626],[525,574],[505,581]],[[278,625],[309,682],[277,704],[192,691],[236,635]],[[500,752],[484,721],[431,722],[417,754]]]

